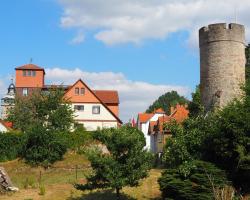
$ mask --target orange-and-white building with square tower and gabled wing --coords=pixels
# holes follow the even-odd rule
[[[35,90],[48,91],[51,87],[63,87],[64,98],[71,102],[71,107],[75,111],[75,121],[83,124],[87,130],[118,127],[122,124],[119,118],[117,91],[92,90],[81,79],[73,85],[45,85],[45,70],[34,64],[17,67],[15,70],[16,83],[15,86],[13,85],[15,89],[13,99],[15,95],[24,97],[32,94]],[[7,100],[5,99],[2,100],[2,110],[7,110]]]

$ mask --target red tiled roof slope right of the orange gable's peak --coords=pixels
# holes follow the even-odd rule
[[[92,90],[105,104],[119,104],[118,92],[114,90]]]

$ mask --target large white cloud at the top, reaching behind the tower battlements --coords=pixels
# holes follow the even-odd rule
[[[249,0],[59,0],[64,13],[61,26],[94,30],[107,45],[164,39],[177,31],[190,34],[197,45],[198,29],[216,22],[235,22],[247,28],[250,39]]]

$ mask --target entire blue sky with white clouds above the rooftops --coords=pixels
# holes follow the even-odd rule
[[[228,13],[237,2],[221,1],[225,13],[213,15],[214,0],[1,1],[0,93],[14,68],[32,58],[50,72],[47,82],[83,78],[94,88],[121,90],[124,120],[168,90],[189,97],[199,83],[198,28],[232,21]],[[249,3],[238,8],[247,28],[249,8]],[[115,87],[110,79],[123,85]],[[144,98],[129,87],[142,90]]]

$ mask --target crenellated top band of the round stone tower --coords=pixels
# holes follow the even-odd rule
[[[245,28],[241,24],[210,24],[199,30],[200,46],[215,41],[233,41],[245,45]]]

